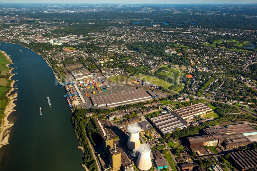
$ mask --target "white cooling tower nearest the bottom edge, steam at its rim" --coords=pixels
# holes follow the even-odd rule
[[[152,168],[151,146],[141,144],[138,148],[139,156],[136,160],[136,166],[139,170],[150,170]]]

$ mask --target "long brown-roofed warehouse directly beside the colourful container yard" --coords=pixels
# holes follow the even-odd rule
[[[143,89],[128,90],[99,96],[91,96],[93,106],[116,107],[125,104],[152,100],[152,97]]]

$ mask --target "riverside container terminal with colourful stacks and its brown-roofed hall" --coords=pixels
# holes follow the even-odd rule
[[[59,85],[65,87],[67,94],[63,97],[67,98],[70,107],[113,108],[159,97],[153,91],[146,91],[124,84],[109,83],[99,77],[98,73],[94,73],[93,77],[79,81],[73,79],[73,81],[63,82]],[[163,97],[163,94],[161,95]],[[167,94],[165,94],[165,97],[167,97]]]

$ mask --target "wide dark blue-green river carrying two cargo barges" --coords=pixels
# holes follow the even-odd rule
[[[14,122],[10,144],[0,148],[0,170],[85,171],[70,120],[72,113],[66,98],[61,98],[66,92],[56,86],[52,69],[42,56],[19,44],[0,44],[0,50],[13,59],[10,67],[17,67],[12,70],[17,73],[12,79],[18,80],[14,87],[19,88],[14,90],[18,94],[16,111],[8,118]]]

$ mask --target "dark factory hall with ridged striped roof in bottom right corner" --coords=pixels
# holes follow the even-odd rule
[[[257,169],[257,150],[237,151],[228,154],[240,171]]]

